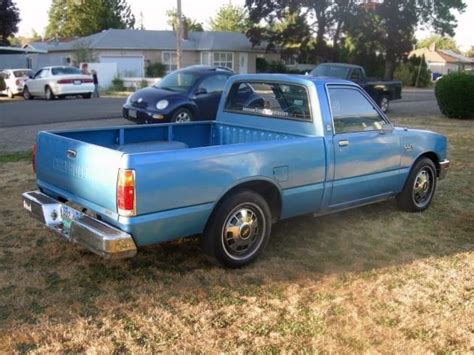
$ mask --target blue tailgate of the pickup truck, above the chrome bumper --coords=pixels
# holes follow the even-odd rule
[[[117,174],[123,152],[40,132],[36,175],[40,188],[110,217],[116,216]]]

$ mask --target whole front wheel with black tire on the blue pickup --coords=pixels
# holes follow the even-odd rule
[[[421,158],[413,166],[402,192],[397,196],[398,206],[407,212],[421,212],[428,208],[436,191],[436,166],[428,158]]]

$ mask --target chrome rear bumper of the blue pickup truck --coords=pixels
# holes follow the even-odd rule
[[[23,193],[23,207],[70,242],[105,258],[131,258],[137,247],[130,234],[92,218],[39,192]]]

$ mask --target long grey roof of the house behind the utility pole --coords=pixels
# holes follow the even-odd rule
[[[33,48],[45,42],[35,42]],[[148,30],[110,29],[93,35],[77,38],[66,43],[47,42],[48,52],[70,51],[87,44],[91,49],[121,50],[176,50],[176,32]],[[238,32],[189,32],[188,39],[182,42],[183,50],[221,50],[221,51],[264,51],[265,44],[252,47],[252,43]]]

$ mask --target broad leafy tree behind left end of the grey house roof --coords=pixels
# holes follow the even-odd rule
[[[135,16],[126,0],[53,0],[48,15],[48,38],[88,36],[135,25]]]

